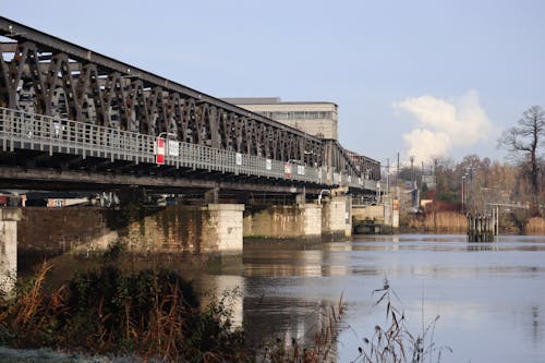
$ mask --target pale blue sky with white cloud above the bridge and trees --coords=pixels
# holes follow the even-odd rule
[[[545,107],[542,0],[1,1],[0,15],[214,97],[339,106],[339,141],[393,164],[502,161]]]

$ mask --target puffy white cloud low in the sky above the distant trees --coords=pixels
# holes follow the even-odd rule
[[[408,155],[429,161],[447,156],[453,148],[467,147],[488,138],[492,123],[479,104],[479,94],[469,90],[455,102],[421,96],[407,98],[393,107],[417,121],[411,132],[403,134]]]

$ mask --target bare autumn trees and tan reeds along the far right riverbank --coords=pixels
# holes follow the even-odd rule
[[[501,134],[504,161],[468,155],[456,162],[438,158],[434,167],[402,168],[399,180],[416,180],[421,197],[451,209],[483,211],[492,204],[520,205],[530,216],[545,215],[545,111],[528,108],[517,124]]]

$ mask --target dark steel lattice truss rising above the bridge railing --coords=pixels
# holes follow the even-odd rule
[[[0,107],[361,176],[340,144],[0,17]]]

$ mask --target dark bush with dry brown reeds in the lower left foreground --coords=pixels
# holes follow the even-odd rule
[[[243,355],[244,339],[221,307],[199,312],[190,286],[171,271],[123,274],[114,267],[78,274],[52,293],[51,268],[19,285],[0,305],[0,341],[12,348],[90,353],[131,352],[144,360],[211,362]],[[233,360],[237,361],[237,360]]]

